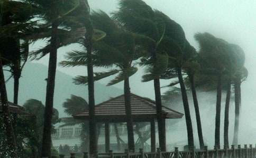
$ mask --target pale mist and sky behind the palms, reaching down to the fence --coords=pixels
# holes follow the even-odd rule
[[[171,19],[179,23],[185,31],[186,38],[189,43],[199,50],[198,43],[194,39],[195,33],[209,32],[218,38],[223,38],[229,43],[240,45],[245,52],[245,67],[248,68],[249,76],[241,85],[242,90],[242,105],[240,113],[239,127],[239,144],[255,144],[256,143],[256,66],[255,56],[255,37],[256,37],[256,1],[221,1],[221,0],[197,0],[197,1],[170,1],[170,0],[145,0],[152,8],[168,15]],[[102,9],[108,14],[116,11],[117,1],[115,0],[90,0],[91,9],[97,11]],[[42,46],[44,42],[36,42],[31,48],[36,50]],[[78,45],[70,45],[62,47],[58,51],[58,62],[65,60],[65,52],[75,50]],[[79,49],[79,48],[78,48]],[[34,63],[48,65],[48,55]],[[58,65],[58,71],[71,76],[85,75],[85,67],[68,67],[63,68]],[[95,68],[99,72],[103,68]],[[149,97],[154,100],[153,83],[141,82],[141,76],[144,70],[141,67],[139,73],[136,73],[130,78],[131,92],[143,97]],[[98,81],[102,84],[107,84],[113,77]],[[161,81],[161,85],[167,85],[170,81]],[[123,82],[114,85],[117,88],[123,89]],[[167,88],[162,88],[162,94]],[[97,94],[97,92],[95,92]],[[222,93],[222,114],[221,114],[221,147],[223,147],[223,129],[224,129],[224,106],[225,106],[225,91]],[[195,118],[195,109],[191,94],[189,95],[189,106],[191,119],[193,121],[194,140],[196,147],[199,147],[197,126]],[[234,95],[234,94],[232,94]],[[214,146],[214,129],[215,129],[215,111],[216,111],[216,92],[199,92],[198,93],[199,109],[202,119],[203,136],[205,145],[213,149]],[[177,111],[183,113],[182,100],[175,103],[167,104]],[[173,125],[173,122],[176,122]],[[167,125],[167,144],[169,150],[173,147],[182,147],[187,144],[187,132],[185,117],[180,120],[168,120]],[[173,126],[172,126],[173,125]],[[234,130],[234,101],[230,103],[230,124],[229,124],[229,141],[233,140]],[[158,142],[158,140],[157,140]]]

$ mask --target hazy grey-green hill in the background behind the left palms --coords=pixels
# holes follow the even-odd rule
[[[43,64],[27,63],[22,72],[20,79],[20,91],[19,91],[19,105],[23,105],[30,98],[40,100],[45,103],[45,93],[47,82],[48,67]],[[5,73],[5,78],[10,74]],[[54,91],[54,108],[59,111],[59,117],[67,117],[64,113],[62,103],[70,98],[71,94],[81,96],[88,101],[88,89],[83,85],[75,85],[72,83],[72,76],[56,72],[56,85]],[[13,80],[6,84],[8,100],[13,101]],[[115,97],[121,95],[123,90],[114,86],[106,86],[95,82],[95,102],[101,103],[109,99],[109,97]]]

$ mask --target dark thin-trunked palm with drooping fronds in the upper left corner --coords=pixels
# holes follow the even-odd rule
[[[1,45],[4,46],[4,52],[8,52],[4,53],[3,57],[5,58],[4,63],[10,67],[10,72],[14,78],[13,102],[15,104],[18,103],[19,79],[21,77],[22,68],[28,60],[29,44],[24,38],[24,34],[26,34],[28,30],[21,32],[19,29],[15,30],[13,26],[25,25],[31,22],[31,19],[36,14],[35,9],[31,6],[31,4],[25,2],[5,1],[2,9],[2,14],[6,16],[4,21],[7,27],[9,27],[10,30],[13,29],[11,34],[9,34],[8,31],[2,32],[4,37],[1,38]],[[6,30],[6,28],[2,30]]]

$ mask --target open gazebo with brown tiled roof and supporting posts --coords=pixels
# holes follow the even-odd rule
[[[150,122],[151,151],[156,151],[156,103],[149,98],[131,93],[131,108],[133,122]],[[162,106],[164,120],[166,118],[181,118],[184,114]],[[109,123],[126,122],[124,95],[111,98],[95,106],[96,121],[105,123],[105,150],[109,151]],[[73,115],[74,118],[88,120],[89,111]]]

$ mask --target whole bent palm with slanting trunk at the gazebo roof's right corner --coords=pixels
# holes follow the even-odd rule
[[[179,24],[177,24],[175,21],[172,21],[167,15],[163,14],[162,12],[155,11],[155,16],[157,19],[161,19],[161,21],[159,20],[159,23],[164,23],[166,27],[157,51],[166,52],[169,58],[168,68],[166,69],[166,72],[161,75],[161,78],[171,79],[174,77],[178,77],[179,82],[174,82],[174,84],[180,84],[182,102],[184,105],[187,124],[188,145],[190,149],[193,149],[193,127],[191,123],[189,104],[182,69],[185,67],[185,63],[192,63],[192,58],[195,56],[195,49],[187,42],[185,33]],[[196,110],[197,109],[198,108],[196,108]],[[200,117],[200,115],[198,116]]]

